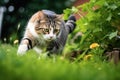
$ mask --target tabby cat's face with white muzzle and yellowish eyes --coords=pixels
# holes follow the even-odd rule
[[[60,33],[61,20],[56,17],[44,17],[38,20],[35,26],[35,31],[38,35],[42,35],[44,40],[55,40]]]

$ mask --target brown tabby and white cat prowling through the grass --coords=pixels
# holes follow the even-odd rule
[[[44,48],[49,52],[60,54],[66,44],[68,34],[76,27],[76,18],[71,15],[65,22],[63,15],[50,10],[41,10],[29,19],[17,54],[24,55],[27,50],[34,49],[41,53]]]

